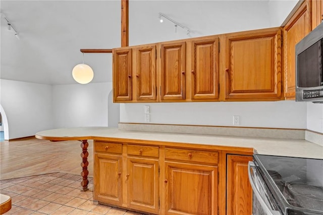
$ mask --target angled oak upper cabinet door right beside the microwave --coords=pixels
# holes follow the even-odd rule
[[[305,1],[284,27],[285,98],[295,99],[295,45],[310,31],[308,2]]]

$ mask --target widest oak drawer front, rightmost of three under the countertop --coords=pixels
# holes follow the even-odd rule
[[[166,159],[187,160],[218,164],[219,155],[217,151],[199,151],[194,149],[166,148]]]

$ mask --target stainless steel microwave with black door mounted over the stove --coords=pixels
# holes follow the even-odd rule
[[[323,103],[323,22],[295,47],[296,101]]]

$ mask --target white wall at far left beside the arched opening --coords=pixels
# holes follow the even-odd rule
[[[0,79],[0,85],[0,103],[8,119],[9,139],[33,136],[52,128],[50,85],[5,79]]]

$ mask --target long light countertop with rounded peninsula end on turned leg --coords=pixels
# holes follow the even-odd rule
[[[323,146],[306,140],[295,139],[125,131],[118,130],[118,128],[108,127],[52,129],[37,132],[36,137],[39,139],[48,140],[98,139],[113,141],[116,139],[123,139],[122,141],[145,140],[158,142],[204,144],[223,147],[253,148],[259,154],[323,159]]]

